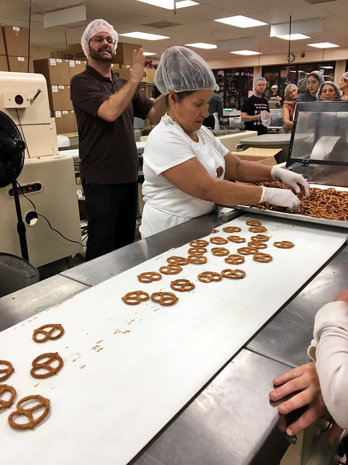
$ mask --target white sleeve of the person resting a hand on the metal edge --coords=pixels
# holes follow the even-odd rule
[[[330,302],[317,312],[314,340],[315,367],[325,405],[336,423],[348,430],[347,302]]]

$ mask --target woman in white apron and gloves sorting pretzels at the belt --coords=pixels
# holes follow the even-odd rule
[[[268,199],[274,205],[298,209],[300,201],[290,190],[226,180],[281,179],[296,192],[305,189],[309,194],[301,175],[241,161],[202,126],[216,88],[203,58],[185,47],[168,48],[161,56],[155,84],[166,95],[168,111],[150,132],[143,154],[143,238],[205,215],[215,209],[215,203],[245,205]]]

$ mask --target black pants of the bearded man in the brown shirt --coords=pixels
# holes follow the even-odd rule
[[[120,249],[134,241],[138,183],[85,184],[88,214],[86,261]]]

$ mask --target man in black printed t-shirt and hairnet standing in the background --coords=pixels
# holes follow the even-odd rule
[[[268,101],[262,96],[266,89],[266,79],[256,77],[253,83],[254,95],[244,100],[241,120],[248,131],[257,131],[257,135],[267,134],[267,127],[261,122],[261,112],[270,111]]]

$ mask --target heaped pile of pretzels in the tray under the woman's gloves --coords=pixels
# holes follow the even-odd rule
[[[255,183],[257,186],[275,187],[277,189],[291,189],[289,186],[280,181],[269,181],[265,183]],[[298,215],[313,216],[315,218],[338,219],[348,221],[348,192],[338,191],[331,187],[329,189],[310,188],[310,197],[306,198],[301,193],[298,197],[301,200],[300,210],[295,213]],[[283,207],[277,207],[267,202],[262,204],[250,204],[250,207],[256,207],[262,210],[274,210],[285,212]]]

